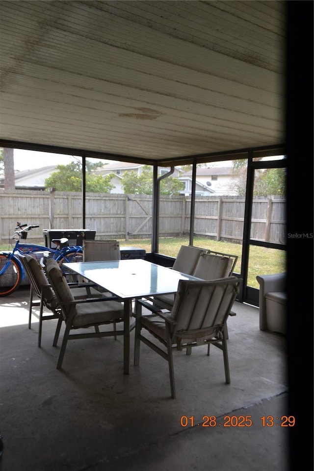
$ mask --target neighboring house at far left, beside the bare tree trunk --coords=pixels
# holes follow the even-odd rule
[[[52,172],[56,171],[56,165],[49,167],[41,167],[40,169],[31,169],[16,171],[15,175],[15,188],[17,190],[44,190],[45,179],[48,178]],[[0,178],[0,188],[4,187],[4,176]]]

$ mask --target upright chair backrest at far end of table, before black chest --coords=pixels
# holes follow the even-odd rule
[[[84,262],[120,259],[120,244],[117,241],[83,241]]]

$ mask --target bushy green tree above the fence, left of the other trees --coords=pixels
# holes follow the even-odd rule
[[[92,193],[109,193],[114,188],[110,183],[114,174],[106,176],[92,174],[95,168],[104,164],[90,163],[86,161],[86,191]],[[54,188],[56,191],[81,191],[82,189],[82,164],[71,162],[68,165],[58,165],[57,171],[53,172],[45,180],[46,188]]]

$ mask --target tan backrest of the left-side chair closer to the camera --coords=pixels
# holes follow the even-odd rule
[[[67,305],[64,303],[74,301],[74,296],[68,285],[68,282],[62,273],[58,263],[52,258],[48,258],[46,262],[46,269],[49,281],[51,282],[53,291],[57,297],[57,300],[62,303],[61,311],[63,318],[66,321],[71,314],[76,314],[76,305]]]

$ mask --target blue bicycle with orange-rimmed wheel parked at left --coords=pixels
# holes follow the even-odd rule
[[[14,229],[13,250],[0,252],[0,296],[8,296],[13,293],[25,278],[24,267],[19,259],[19,253],[49,252],[45,256],[52,256],[62,267],[64,262],[81,262],[83,258],[82,246],[69,246],[69,240],[53,239],[56,248],[49,248],[37,244],[26,244],[20,240],[27,239],[27,233],[39,227],[39,225],[27,225],[18,223]]]

